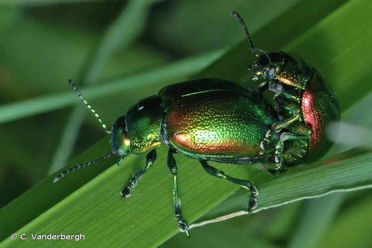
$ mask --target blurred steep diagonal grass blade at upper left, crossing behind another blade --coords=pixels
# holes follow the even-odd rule
[[[127,47],[137,39],[145,24],[147,10],[155,1],[157,0],[130,0],[126,4],[117,19],[106,30],[95,54],[86,66],[86,72],[82,73],[82,78],[79,80],[81,83],[96,83],[111,54],[118,47]],[[80,103],[72,110],[64,126],[62,138],[53,155],[47,175],[61,169],[69,160],[80,126],[85,118],[86,111],[84,110],[85,106]]]

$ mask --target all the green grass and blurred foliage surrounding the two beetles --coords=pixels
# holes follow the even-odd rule
[[[139,99],[187,78],[254,86],[246,71],[254,58],[231,10],[243,16],[256,47],[296,53],[336,91],[342,124],[329,132],[336,145],[328,160],[275,178],[255,166],[220,165],[254,178],[258,210],[270,209],[192,228],[189,240],[176,234],[165,147],[124,203],[119,192],[143,164],[139,156],[51,183],[62,167],[110,149],[68,78],[109,126]],[[0,0],[0,246],[371,247],[371,10],[368,0]],[[204,175],[183,155],[176,160],[186,220],[245,209],[244,189]],[[328,194],[354,189],[363,190]],[[8,238],[21,232],[86,239]]]

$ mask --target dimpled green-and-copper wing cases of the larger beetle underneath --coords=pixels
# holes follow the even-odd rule
[[[276,121],[270,104],[247,89],[188,93],[167,104],[165,116],[173,146],[187,155],[209,158],[257,156],[260,142]]]

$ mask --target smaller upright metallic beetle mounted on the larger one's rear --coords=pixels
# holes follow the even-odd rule
[[[252,80],[269,79],[259,88],[263,91],[269,87],[275,92],[279,121],[272,124],[272,131],[261,142],[264,151],[272,133],[281,133],[275,151],[276,169],[269,172],[282,173],[286,166],[318,160],[333,144],[325,135],[327,125],[340,121],[335,93],[319,71],[300,57],[254,48],[243,19],[234,11],[232,15],[241,23],[252,54],[258,57],[248,67],[254,73]]]

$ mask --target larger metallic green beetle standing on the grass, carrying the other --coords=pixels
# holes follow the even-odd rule
[[[118,164],[130,153],[147,154],[145,166],[133,174],[121,192],[122,199],[125,199],[137,180],[155,162],[155,148],[164,143],[169,146],[167,164],[173,177],[175,218],[187,237],[189,233],[178,195],[178,169],[173,157],[176,152],[198,159],[208,174],[248,188],[248,213],[256,206],[255,195],[258,191],[252,182],[232,178],[208,165],[207,161],[249,165],[274,160],[279,133],[274,132],[265,150],[259,153],[260,142],[270,131],[271,125],[278,122],[274,109],[260,91],[233,81],[213,78],[169,85],[161,89],[158,95],[142,99],[130,107],[124,116],[116,120],[110,131],[75,84],[71,80],[69,84],[105,131],[111,133],[112,150],[96,160],[67,169],[54,182],[113,154],[120,157]]]

